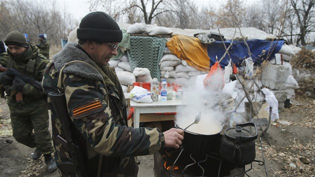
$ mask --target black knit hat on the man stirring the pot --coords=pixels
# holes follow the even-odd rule
[[[102,11],[94,11],[85,15],[76,30],[79,40],[95,40],[101,42],[120,42],[122,31],[117,22]]]

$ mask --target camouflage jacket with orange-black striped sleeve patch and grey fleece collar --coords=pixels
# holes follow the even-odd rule
[[[113,165],[108,160],[111,157],[121,160],[124,156],[157,152],[161,147],[157,128],[126,126],[125,98],[114,68],[108,65],[98,67],[76,45],[67,43],[53,56],[53,61],[45,69],[42,86],[46,93],[58,92],[59,71],[70,61],[80,60],[92,65],[74,62],[67,64],[62,72],[63,92],[70,119],[86,143],[87,164],[93,164],[88,167],[89,170],[97,170],[100,155],[107,159],[106,163],[102,163],[102,169],[108,169],[108,166]],[[50,108],[53,109],[51,105]],[[52,115],[52,138],[57,164],[70,159],[66,148],[56,140],[58,134],[64,137],[59,118]],[[124,172],[128,173],[127,170]]]

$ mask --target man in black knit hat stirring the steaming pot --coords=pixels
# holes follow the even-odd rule
[[[157,128],[126,125],[124,94],[114,68],[107,64],[117,54],[122,32],[109,15],[100,11],[87,14],[77,29],[77,38],[78,44],[67,43],[47,65],[44,91],[65,94],[68,114],[79,132],[75,136],[83,141],[88,176],[136,176],[134,156],[152,154],[161,146],[179,148],[183,130],[160,132]],[[57,87],[58,81],[62,86]],[[55,112],[53,106],[50,108]],[[59,165],[71,158],[66,146],[56,138],[58,134],[65,135],[55,115],[52,128],[59,172],[71,176]],[[73,130],[72,133],[75,134]]]

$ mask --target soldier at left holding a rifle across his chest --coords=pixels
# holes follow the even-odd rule
[[[49,61],[39,54],[38,48],[27,43],[24,35],[16,30],[6,35],[4,43],[7,51],[0,55],[0,64],[6,68],[15,68],[25,75],[41,81],[44,68]],[[48,171],[56,169],[55,161],[51,156],[53,148],[48,131],[49,116],[46,95],[7,72],[0,73],[0,84],[10,95],[7,105],[10,109],[14,138],[24,145],[36,147],[32,156],[34,160],[44,154]],[[22,93],[22,102],[16,101],[16,92]]]

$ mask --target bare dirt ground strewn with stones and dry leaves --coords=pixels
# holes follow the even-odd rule
[[[256,141],[256,159],[264,160],[266,169],[253,162],[248,176],[315,176],[315,98],[296,95],[291,102],[290,108],[279,110],[279,121],[270,124],[262,145]],[[58,176],[57,170],[47,171],[43,157],[32,160],[34,149],[16,142],[11,134],[8,107],[0,99],[0,176]],[[138,159],[138,176],[154,176],[153,155]]]

